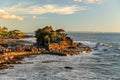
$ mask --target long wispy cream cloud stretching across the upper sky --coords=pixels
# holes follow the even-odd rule
[[[72,6],[59,6],[53,4],[46,4],[42,6],[28,6],[26,8],[22,6],[13,6],[11,8],[6,8],[8,12],[19,13],[19,14],[45,14],[45,13],[55,13],[55,14],[73,14],[80,10],[85,10],[85,7],[80,7],[77,5]]]

